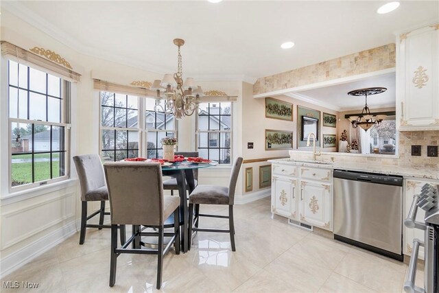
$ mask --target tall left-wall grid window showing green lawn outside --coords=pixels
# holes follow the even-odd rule
[[[54,75],[8,61],[10,186],[67,178],[67,89]]]

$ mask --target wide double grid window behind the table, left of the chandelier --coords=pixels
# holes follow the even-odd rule
[[[99,93],[102,161],[137,156],[160,158],[163,152],[161,139],[176,136],[174,116],[165,113],[164,105],[155,111],[155,99],[152,98],[106,91]],[[146,141],[146,148],[143,148],[142,141]]]

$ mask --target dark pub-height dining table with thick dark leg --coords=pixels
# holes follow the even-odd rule
[[[210,163],[191,163],[188,161],[176,162],[171,165],[162,165],[163,176],[171,176],[176,178],[178,185],[178,195],[180,196],[180,235],[181,235],[181,250],[187,253],[189,249],[189,210],[187,206],[187,191],[189,194],[195,189],[195,180],[193,178],[193,169],[202,169],[214,167],[218,165],[217,162]],[[174,216],[171,215],[165,221],[165,226],[174,224]]]

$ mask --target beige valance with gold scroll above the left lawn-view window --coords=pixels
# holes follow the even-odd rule
[[[67,67],[64,67],[54,60],[49,60],[46,57],[42,57],[32,51],[27,51],[26,49],[11,44],[5,40],[2,40],[0,43],[1,55],[6,56],[10,60],[20,62],[23,65],[28,65],[35,69],[49,71],[51,74],[57,75],[64,80],[69,80],[71,82],[80,82],[80,73],[71,70],[71,68],[69,69]],[[51,52],[54,53],[53,51]]]

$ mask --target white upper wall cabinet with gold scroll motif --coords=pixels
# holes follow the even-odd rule
[[[401,34],[396,58],[396,127],[439,130],[439,24]]]

